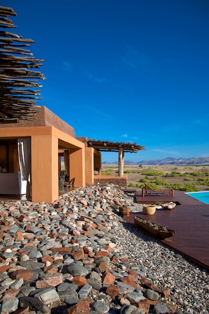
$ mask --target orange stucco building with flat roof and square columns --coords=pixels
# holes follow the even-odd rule
[[[0,194],[6,194],[1,191],[1,177],[5,182],[10,174],[20,173],[19,138],[31,139],[32,201],[49,203],[59,198],[58,172],[64,150],[69,152],[69,182],[76,187],[93,184],[94,149],[85,145],[85,138],[76,138],[69,124],[42,106],[35,121],[0,124],[0,167],[7,171],[0,173]],[[101,155],[99,158],[101,161]]]

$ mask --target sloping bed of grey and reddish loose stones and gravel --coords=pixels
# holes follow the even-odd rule
[[[209,313],[208,271],[125,223],[124,204],[142,208],[113,185],[1,201],[1,314]]]

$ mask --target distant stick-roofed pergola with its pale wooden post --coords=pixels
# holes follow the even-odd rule
[[[97,151],[118,151],[118,176],[123,176],[124,167],[124,153],[145,150],[145,146],[137,145],[131,142],[113,142],[109,140],[89,139],[88,146],[96,149]]]

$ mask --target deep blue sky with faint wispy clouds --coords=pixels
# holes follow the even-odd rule
[[[209,156],[208,0],[3,0],[44,59],[39,105],[142,161]],[[102,154],[117,161],[117,153]]]

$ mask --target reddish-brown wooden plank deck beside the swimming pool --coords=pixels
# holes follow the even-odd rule
[[[157,201],[167,203],[176,202],[172,210],[157,209],[154,215],[144,215],[143,212],[130,213],[123,217],[125,221],[134,225],[134,216],[151,220],[153,223],[166,226],[176,231],[176,235],[161,240],[166,246],[175,249],[200,266],[209,269],[209,205],[193,199],[180,191],[174,191],[174,197],[168,195],[145,195],[136,191],[136,202],[140,204],[155,204]]]

